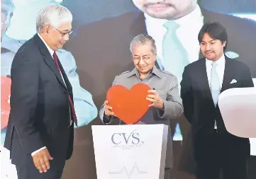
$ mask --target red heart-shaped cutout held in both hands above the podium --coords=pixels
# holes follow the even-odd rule
[[[130,90],[114,85],[108,89],[106,100],[120,120],[132,125],[145,115],[148,105],[152,103],[146,100],[149,90],[150,87],[144,83],[137,83]]]

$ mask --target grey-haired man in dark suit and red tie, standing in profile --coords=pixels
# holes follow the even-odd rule
[[[56,50],[69,40],[72,14],[50,5],[38,14],[37,34],[16,53],[11,67],[11,112],[4,147],[19,179],[61,178],[73,149],[72,86]]]

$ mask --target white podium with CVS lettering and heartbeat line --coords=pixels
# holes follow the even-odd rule
[[[163,179],[167,125],[91,126],[97,179]]]

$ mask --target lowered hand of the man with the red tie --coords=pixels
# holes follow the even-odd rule
[[[49,160],[52,160],[53,158],[50,156],[48,149],[38,151],[38,153],[32,157],[35,168],[37,168],[40,173],[47,172],[47,170],[50,169]]]

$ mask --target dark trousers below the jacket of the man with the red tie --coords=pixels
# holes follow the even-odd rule
[[[32,156],[28,156],[24,165],[16,166],[18,179],[60,179],[62,176],[65,160],[54,158],[50,161],[50,169],[46,173],[40,173],[35,168]]]

